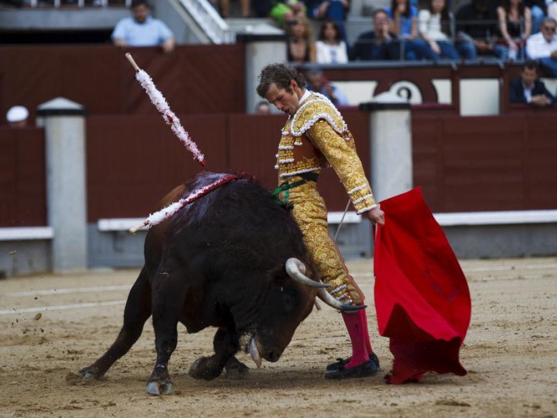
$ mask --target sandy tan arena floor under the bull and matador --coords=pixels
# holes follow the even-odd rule
[[[155,361],[150,321],[141,339],[104,379],[75,372],[100,357],[120,330],[138,270],[45,275],[0,281],[0,418],[4,417],[557,417],[557,258],[463,261],[472,321],[461,350],[469,374],[427,373],[423,382],[386,385],[389,341],[377,336],[372,261],[349,263],[366,295],[373,378],[329,382],[324,366],[349,355],[340,315],[323,307],[298,328],[276,363],[245,380],[187,376],[212,352],[214,330],[180,341],[170,371],[175,394],[154,397],[146,380]]]

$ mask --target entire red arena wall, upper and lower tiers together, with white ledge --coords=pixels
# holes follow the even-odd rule
[[[243,45],[132,53],[212,171],[247,171],[269,188],[276,185],[272,167],[284,116],[246,114]],[[108,45],[0,47],[1,114],[17,103],[29,107],[33,118],[38,104],[58,96],[88,110],[91,266],[139,265],[144,235],[127,235],[130,219],[145,217],[168,190],[200,169],[164,125],[123,54]],[[557,253],[551,241],[557,223],[557,195],[551,193],[557,183],[551,169],[556,110],[508,104],[508,82],[519,65],[351,63],[323,69],[333,82],[351,86],[352,104],[386,91],[411,102],[414,185],[423,188],[458,256]],[[473,114],[492,116],[462,117]],[[353,106],[343,115],[370,173],[368,114]],[[47,225],[44,132],[0,127],[0,149],[0,270],[48,270],[53,231]],[[331,170],[322,177],[335,233],[347,199]],[[503,216],[510,210],[517,211],[512,220]],[[503,215],[494,220],[493,213]],[[444,224],[445,215],[460,220]],[[479,220],[466,222],[471,217]],[[347,219],[338,237],[343,254],[369,256],[368,224],[350,212]]]

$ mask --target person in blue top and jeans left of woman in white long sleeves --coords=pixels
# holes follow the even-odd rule
[[[410,0],[391,0],[391,7],[385,11],[391,20],[391,32],[402,40],[405,59],[437,59],[427,43],[418,38],[418,9]]]

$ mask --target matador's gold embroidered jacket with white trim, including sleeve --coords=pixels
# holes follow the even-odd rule
[[[299,173],[320,173],[330,166],[358,214],[377,206],[356,154],[354,137],[340,112],[320,93],[312,93],[288,119],[276,157],[281,182]]]

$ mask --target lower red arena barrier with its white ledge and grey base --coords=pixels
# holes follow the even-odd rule
[[[557,187],[554,117],[518,111],[468,118],[443,107],[412,111],[414,186],[422,187],[457,256],[557,253],[551,240],[557,208],[551,192]],[[370,173],[368,114],[356,109],[344,114]],[[182,115],[212,171],[246,171],[269,188],[276,185],[272,167],[283,121],[280,115]],[[86,126],[88,263],[141,265],[144,233],[130,235],[127,229],[201,167],[157,115],[92,115]],[[0,270],[10,275],[48,270],[52,231],[46,222],[44,131],[0,128],[0,147],[6,150],[0,157]],[[340,220],[335,214],[344,210],[346,194],[332,170],[322,176],[320,190],[334,234]],[[510,211],[515,217],[503,219],[501,214]],[[490,213],[501,219],[466,221]],[[461,220],[446,222],[445,215]],[[338,238],[343,254],[370,256],[368,224],[351,212],[347,221]]]

